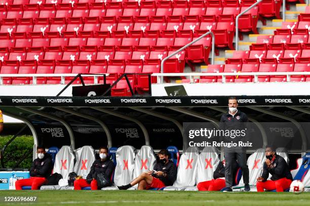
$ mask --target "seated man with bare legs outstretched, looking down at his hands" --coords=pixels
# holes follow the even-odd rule
[[[138,184],[138,190],[160,188],[173,185],[176,180],[177,168],[169,158],[167,149],[158,153],[159,161],[153,171],[144,172],[128,185],[118,186],[119,189],[128,189]]]

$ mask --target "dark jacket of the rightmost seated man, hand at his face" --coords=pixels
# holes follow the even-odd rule
[[[286,177],[287,179],[293,180],[290,169],[281,156],[276,154],[276,159],[272,162],[274,168],[268,168],[267,164],[264,163],[262,177],[264,178],[263,182],[267,181],[269,173],[272,175],[271,180],[279,180]]]

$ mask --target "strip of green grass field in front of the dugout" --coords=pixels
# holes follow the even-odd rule
[[[5,202],[5,196],[36,196],[35,202]],[[309,205],[310,192],[193,192],[193,191],[0,191],[0,205]]]

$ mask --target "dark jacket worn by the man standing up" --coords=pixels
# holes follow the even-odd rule
[[[237,110],[237,113],[232,116],[229,114],[229,112],[225,113],[222,115],[221,120],[220,120],[220,125],[219,128],[220,130],[239,130],[242,131],[244,130],[246,134],[246,127],[247,127],[247,122],[249,122],[248,117],[245,113],[241,112],[239,109]],[[243,141],[246,135],[239,135],[234,138],[230,138],[229,136],[222,137],[222,141]]]

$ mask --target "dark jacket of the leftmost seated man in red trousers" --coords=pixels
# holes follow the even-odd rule
[[[31,177],[47,178],[51,175],[53,167],[51,155],[49,153],[45,153],[42,160],[37,158],[32,162],[29,173]]]

